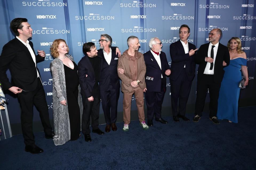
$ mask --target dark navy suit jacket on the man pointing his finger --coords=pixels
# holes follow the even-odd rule
[[[189,51],[196,49],[194,44],[189,43]],[[171,55],[171,74],[170,79],[176,80],[181,74],[184,65],[186,66],[187,77],[192,81],[195,77],[195,62],[194,55],[189,56],[189,53],[185,54],[185,50],[181,41],[176,41],[170,45]]]

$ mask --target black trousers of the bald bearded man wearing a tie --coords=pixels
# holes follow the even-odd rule
[[[195,116],[202,116],[207,89],[210,95],[210,114],[209,117],[217,117],[218,98],[221,82],[215,83],[213,75],[203,74],[200,80],[197,80],[197,100],[195,101]]]

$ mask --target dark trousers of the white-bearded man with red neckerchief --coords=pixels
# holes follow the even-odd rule
[[[163,98],[165,96],[165,84],[161,80],[161,92],[146,91],[145,100],[147,105],[147,119],[152,120],[154,118],[161,118],[161,110],[163,104]]]

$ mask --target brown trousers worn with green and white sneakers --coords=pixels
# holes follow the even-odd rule
[[[130,93],[123,93],[123,121],[124,124],[128,125],[131,122],[131,99],[133,94],[136,99],[139,122],[145,121],[143,89],[137,87],[133,88],[133,91]]]

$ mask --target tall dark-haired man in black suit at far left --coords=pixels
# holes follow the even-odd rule
[[[49,139],[54,135],[51,132],[45,91],[37,68],[37,63],[44,60],[45,52],[37,50],[38,55],[35,55],[33,43],[28,40],[32,37],[32,28],[26,18],[13,19],[10,27],[16,38],[3,46],[0,57],[0,81],[5,90],[8,89],[18,95],[25,151],[38,154],[43,150],[35,145],[32,129],[33,105],[39,111],[45,137]],[[9,82],[6,75],[8,68],[13,84]]]

